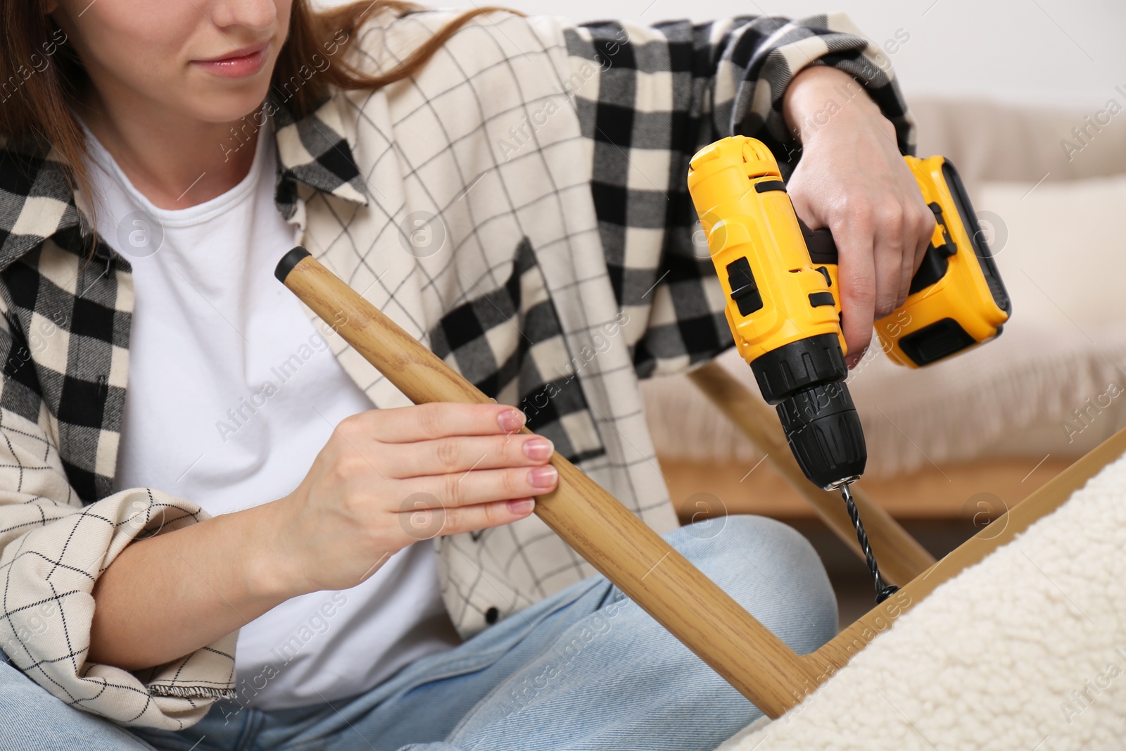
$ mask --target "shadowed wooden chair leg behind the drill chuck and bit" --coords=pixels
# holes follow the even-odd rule
[[[786,444],[775,411],[716,361],[692,370],[688,377],[769,457],[781,475],[810,502],[822,521],[864,560],[864,551],[856,539],[856,529],[848,518],[840,494],[821,490],[802,474]],[[860,511],[864,529],[868,533],[872,549],[879,561],[879,571],[886,579],[896,584],[905,584],[935,565],[935,556],[883,507],[873,501],[858,483],[852,485],[852,497]]]

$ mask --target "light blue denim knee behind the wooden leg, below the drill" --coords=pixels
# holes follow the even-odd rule
[[[837,597],[824,564],[789,525],[732,515],[686,525],[667,539],[796,652],[837,634]]]

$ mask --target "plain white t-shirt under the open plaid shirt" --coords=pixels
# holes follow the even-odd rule
[[[132,263],[136,295],[116,489],[157,488],[212,515],[288,494],[333,427],[373,405],[274,277],[295,227],[274,203],[272,133],[259,133],[238,186],[175,211],[87,136],[97,229]],[[358,587],[293,598],[243,626],[238,701],[352,696],[457,642],[434,546],[420,542]]]

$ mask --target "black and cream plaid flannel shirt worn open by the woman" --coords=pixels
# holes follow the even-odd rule
[[[386,70],[452,17],[385,14],[347,54]],[[913,147],[887,59],[843,16],[645,27],[493,12],[413,78],[334,91],[302,119],[276,87],[278,209],[315,257],[664,531],[676,517],[637,379],[731,342],[688,161],[742,133],[792,162],[781,93],[810,64],[854,73]],[[175,488],[113,490],[131,267],[101,240],[82,256],[89,204],[66,186],[55,152],[0,143],[0,647],[71,706],[182,728],[235,696],[236,634],[149,670],[87,659],[98,575],[133,539],[207,515]],[[406,403],[314,322],[377,406]],[[593,573],[535,516],[434,544],[464,636]]]

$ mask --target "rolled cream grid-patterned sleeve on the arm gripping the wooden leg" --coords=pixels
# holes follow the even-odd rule
[[[129,672],[87,659],[93,583],[135,539],[207,518],[149,489],[83,506],[35,388],[30,352],[0,316],[0,650],[68,705],[123,725],[182,730],[234,698],[238,632],[168,664]]]

